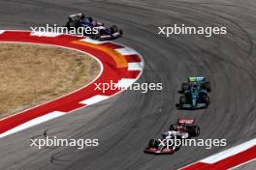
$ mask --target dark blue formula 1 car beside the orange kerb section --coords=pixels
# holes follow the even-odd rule
[[[85,16],[84,14],[72,14],[69,16],[69,20],[65,25],[70,31],[72,28],[79,30],[91,29],[91,32],[83,32],[83,36],[88,36],[91,39],[106,41],[119,38],[123,35],[123,31],[118,29],[117,26],[112,25],[110,28],[104,26],[103,23],[94,20],[92,17]]]

